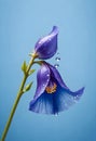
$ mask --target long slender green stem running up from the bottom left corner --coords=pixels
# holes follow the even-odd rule
[[[22,85],[20,85],[20,87],[19,87],[17,97],[16,97],[15,102],[14,102],[14,104],[13,104],[11,114],[10,114],[10,116],[9,116],[8,123],[6,123],[6,125],[5,125],[5,128],[4,128],[4,131],[3,131],[3,133],[2,133],[2,138],[1,138],[0,141],[4,141],[4,140],[5,140],[6,133],[8,133],[8,131],[9,131],[10,126],[11,126],[11,123],[12,123],[14,113],[15,113],[15,111],[16,111],[17,104],[18,104],[18,102],[19,102],[19,100],[20,100],[20,97],[22,97],[22,94],[23,94],[23,89],[24,89],[24,86],[25,86],[26,80],[27,80],[27,78],[28,78],[28,73],[29,73],[29,70],[30,70],[30,68],[31,68],[31,66],[32,66],[32,64],[33,64],[35,57],[36,57],[36,56],[31,57],[31,60],[30,60],[30,62],[29,62],[29,65],[28,65],[28,67],[27,67],[27,72],[26,72],[26,74],[24,75]]]

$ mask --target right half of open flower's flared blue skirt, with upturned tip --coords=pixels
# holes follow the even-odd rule
[[[56,91],[56,94],[54,97],[55,102],[55,113],[63,112],[65,110],[68,110],[71,105],[73,105],[82,95],[83,88],[77,92],[72,92],[70,94],[70,91],[67,91],[63,87],[58,85],[58,89]],[[79,99],[77,99],[79,98]]]

